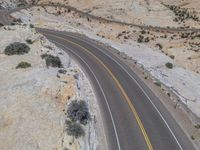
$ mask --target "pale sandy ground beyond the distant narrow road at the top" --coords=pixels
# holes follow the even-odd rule
[[[40,0],[39,3],[52,2]],[[120,20],[129,23],[145,24],[153,26],[191,26],[200,27],[199,22],[188,20],[185,23],[174,22],[175,15],[164,4],[181,6],[190,11],[197,11],[200,16],[200,2],[198,0],[55,0],[53,3],[60,3],[74,6],[80,10],[101,16],[108,19]]]

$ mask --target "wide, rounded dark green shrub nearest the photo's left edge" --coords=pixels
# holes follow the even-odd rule
[[[5,48],[6,55],[23,55],[30,51],[30,47],[25,43],[14,42]]]

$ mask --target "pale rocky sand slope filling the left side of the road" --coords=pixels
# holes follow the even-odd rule
[[[2,150],[63,150],[97,149],[96,129],[101,127],[94,117],[99,116],[97,102],[83,72],[69,56],[29,26],[0,28],[0,147]],[[25,55],[7,56],[4,49],[12,42],[29,44]],[[66,74],[59,68],[47,68],[41,54],[59,56]],[[19,62],[31,64],[27,69],[16,69]],[[72,100],[89,104],[91,121],[84,126],[86,135],[77,140],[68,136],[65,110]]]

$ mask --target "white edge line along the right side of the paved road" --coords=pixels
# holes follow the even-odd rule
[[[61,33],[62,34],[62,33]],[[76,38],[76,39],[79,39],[80,41],[82,42],[85,42],[87,43],[88,45],[90,46],[93,46],[95,48],[97,48],[98,50],[100,50],[104,55],[106,55],[107,57],[109,57],[110,59],[112,59],[115,63],[117,63],[134,81],[135,83],[138,85],[138,87],[142,90],[142,92],[145,94],[145,96],[148,98],[148,100],[150,101],[150,103],[152,104],[152,106],[154,107],[154,109],[158,112],[159,116],[162,118],[163,122],[165,123],[165,125],[167,126],[167,128],[169,129],[170,133],[172,134],[172,136],[174,137],[176,143],[178,144],[179,148],[181,150],[183,150],[181,144],[179,143],[178,139],[176,138],[175,134],[173,133],[173,131],[171,130],[171,128],[169,127],[167,121],[165,120],[165,118],[163,117],[163,115],[161,114],[161,112],[158,110],[158,108],[155,106],[155,104],[153,103],[153,101],[151,100],[151,98],[147,95],[147,93],[144,91],[144,89],[141,87],[141,85],[137,82],[137,80],[129,74],[129,72],[119,63],[117,62],[114,58],[112,58],[111,56],[109,56],[108,54],[106,54],[103,50],[101,50],[100,48],[96,47],[95,45],[91,45],[88,41],[85,41],[83,39],[80,39],[78,38],[77,36],[73,37],[73,36],[70,36],[70,35],[66,35],[66,34],[62,34],[62,35],[65,35],[65,36],[68,36],[68,37],[72,37],[72,38]]]

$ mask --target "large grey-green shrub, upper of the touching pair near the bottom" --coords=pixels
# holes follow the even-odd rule
[[[68,117],[72,121],[78,121],[83,125],[86,125],[90,120],[90,113],[88,105],[85,101],[72,101],[67,109]]]

